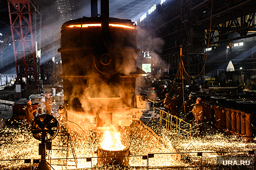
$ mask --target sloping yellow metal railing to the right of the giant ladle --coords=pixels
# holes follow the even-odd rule
[[[154,107],[153,110],[153,121],[155,121],[155,115],[158,116],[157,114],[155,114],[156,110],[159,111],[159,125],[162,125],[163,120],[165,120],[166,129],[174,131],[175,134],[178,136],[180,136],[181,133],[185,133],[185,135],[188,135],[188,137],[190,137],[190,141],[192,140],[192,124],[156,107]],[[166,117],[164,117],[164,115],[166,115]],[[190,143],[190,145],[191,144],[192,143]]]

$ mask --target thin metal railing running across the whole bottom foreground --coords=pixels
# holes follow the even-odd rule
[[[183,163],[183,158],[191,158],[193,162],[190,164]],[[78,169],[101,169],[102,165],[99,160],[104,159],[124,159],[128,160],[126,170],[134,169],[179,169],[179,170],[213,170],[214,167],[244,167],[255,169],[256,168],[256,150],[251,151],[234,151],[234,152],[180,152],[180,153],[147,153],[145,155],[128,155],[128,156],[103,156],[103,157],[80,157],[80,158],[52,158],[50,160],[67,160],[73,162],[74,159],[78,160]],[[114,162],[114,161],[113,161]],[[0,160],[1,170],[21,170],[38,166],[40,159],[13,159],[13,160]],[[52,169],[68,170],[67,166],[51,166]],[[122,165],[119,165],[122,166]],[[110,166],[111,167],[111,166]],[[95,170],[96,170],[95,169]],[[102,168],[103,169],[103,168]],[[106,169],[106,167],[105,167]]]

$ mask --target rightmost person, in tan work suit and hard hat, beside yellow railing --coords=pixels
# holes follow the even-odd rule
[[[192,113],[194,115],[196,131],[198,136],[203,135],[205,112],[205,105],[201,103],[201,98],[197,98],[196,104],[193,106]]]

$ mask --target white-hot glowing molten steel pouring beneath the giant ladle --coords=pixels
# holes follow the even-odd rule
[[[103,134],[101,148],[107,151],[122,151],[126,147],[121,142],[120,133],[106,131]]]

